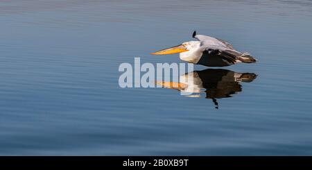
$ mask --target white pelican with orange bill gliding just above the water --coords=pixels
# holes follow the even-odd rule
[[[225,67],[239,62],[252,63],[257,61],[249,53],[236,51],[232,44],[224,40],[207,35],[196,35],[196,31],[193,33],[193,38],[198,41],[183,42],[180,45],[151,54],[180,53],[180,59],[183,61],[209,67]]]

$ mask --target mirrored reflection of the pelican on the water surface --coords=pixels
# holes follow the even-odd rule
[[[242,91],[241,82],[250,83],[257,77],[253,73],[237,73],[227,69],[205,69],[180,76],[180,82],[157,81],[164,88],[179,90],[190,97],[206,94],[218,109],[217,99],[231,97]],[[190,80],[193,78],[193,80]]]

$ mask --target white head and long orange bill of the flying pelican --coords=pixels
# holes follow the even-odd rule
[[[172,46],[168,49],[162,49],[159,51],[156,51],[155,53],[150,53],[153,55],[166,55],[166,54],[173,54],[173,53],[184,53],[187,51],[193,51],[195,49],[198,49],[200,47],[199,41],[189,41],[189,42],[183,42],[182,44],[179,44],[177,46]]]

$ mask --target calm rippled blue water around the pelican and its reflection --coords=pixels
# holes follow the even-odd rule
[[[311,21],[312,1],[1,1],[0,155],[312,155]],[[119,87],[194,30],[259,62],[196,66],[200,98]]]

